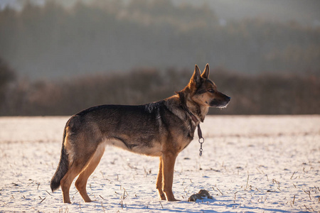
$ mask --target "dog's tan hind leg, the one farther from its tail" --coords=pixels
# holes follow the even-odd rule
[[[75,187],[77,187],[78,191],[80,192],[80,195],[82,196],[83,200],[85,200],[85,202],[92,201],[90,197],[87,195],[87,179],[90,177],[93,171],[95,171],[95,168],[97,168],[97,165],[100,163],[100,160],[104,152],[105,145],[101,144],[97,147],[97,150],[90,159],[90,162],[87,164],[85,169],[82,170],[82,173],[80,173],[79,178],[75,181]]]

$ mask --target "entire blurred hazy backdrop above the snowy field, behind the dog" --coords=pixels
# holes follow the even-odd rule
[[[0,0],[0,116],[144,104],[210,64],[210,114],[320,114],[318,0]]]

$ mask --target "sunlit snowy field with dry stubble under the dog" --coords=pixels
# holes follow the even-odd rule
[[[208,116],[203,156],[176,160],[174,195],[159,201],[158,158],[109,147],[85,203],[50,192],[68,117],[0,118],[0,212],[319,212],[320,116]],[[206,189],[214,200],[187,202]]]

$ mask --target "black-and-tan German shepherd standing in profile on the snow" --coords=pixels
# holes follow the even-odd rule
[[[196,126],[209,107],[226,107],[230,97],[218,92],[208,79],[209,65],[201,74],[196,65],[188,85],[167,99],[138,106],[102,105],[80,111],[65,125],[60,162],[50,183],[61,185],[63,202],[70,203],[75,187],[85,202],[87,179],[100,162],[106,145],[160,158],[156,189],[160,200],[176,201],[172,192],[174,163],[193,140]]]

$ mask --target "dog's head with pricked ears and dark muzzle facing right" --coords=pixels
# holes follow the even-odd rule
[[[218,92],[217,86],[209,80],[209,65],[201,74],[199,67],[196,65],[191,80],[188,84],[191,99],[203,107],[227,107],[230,97]]]

